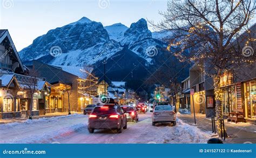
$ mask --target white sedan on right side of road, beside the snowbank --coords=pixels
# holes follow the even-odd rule
[[[172,106],[163,105],[156,106],[153,109],[152,113],[152,125],[155,126],[156,123],[173,123],[173,126],[176,125],[176,113],[173,111]]]

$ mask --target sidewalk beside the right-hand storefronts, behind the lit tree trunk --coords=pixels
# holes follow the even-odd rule
[[[177,117],[189,125],[197,126],[204,132],[212,132],[211,118],[205,118],[204,114],[196,114],[197,125],[194,125],[193,114],[180,113],[177,114]],[[242,122],[233,123],[225,120],[225,128],[229,138],[226,138],[224,143],[256,143],[256,125]]]

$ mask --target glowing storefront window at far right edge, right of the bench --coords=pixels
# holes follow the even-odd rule
[[[248,82],[245,85],[246,118],[256,119],[256,81]]]

